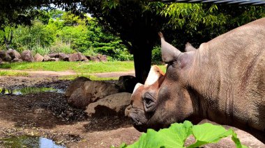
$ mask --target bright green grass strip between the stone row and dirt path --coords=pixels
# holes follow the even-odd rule
[[[105,63],[84,63],[84,62],[35,62],[35,63],[5,63],[0,65],[3,69],[13,70],[45,70],[63,72],[73,70],[77,73],[102,73],[102,72],[127,72],[134,69],[133,62],[105,62]]]

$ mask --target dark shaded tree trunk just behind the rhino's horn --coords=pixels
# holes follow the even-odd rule
[[[148,43],[132,44],[134,46],[133,59],[135,62],[135,76],[138,83],[144,84],[151,68],[153,46]]]

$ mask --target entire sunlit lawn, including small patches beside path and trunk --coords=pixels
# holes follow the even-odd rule
[[[158,65],[163,72],[166,71],[165,65]],[[60,79],[75,79],[78,76],[85,76],[91,80],[116,80],[119,77],[98,78],[93,73],[102,72],[128,72],[134,70],[133,61],[109,61],[105,63],[84,63],[84,62],[35,62],[35,63],[5,63],[0,65],[1,69],[27,70],[27,71],[54,71],[63,72],[73,70],[75,76],[62,76]],[[29,76],[27,72],[0,71],[0,76]]]

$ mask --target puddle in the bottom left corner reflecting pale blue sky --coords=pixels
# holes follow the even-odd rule
[[[29,135],[22,135],[20,137],[4,138],[4,139],[0,139],[0,142],[1,142],[0,146],[3,145],[4,147],[64,148],[63,145],[56,145],[56,143],[53,140],[42,138],[42,137],[33,137]]]

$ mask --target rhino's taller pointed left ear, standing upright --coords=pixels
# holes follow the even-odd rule
[[[161,54],[162,60],[165,63],[170,63],[181,55],[181,51],[176,49],[171,44],[165,41],[165,38],[161,32],[158,33],[161,38]]]

